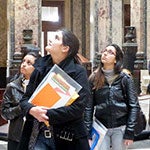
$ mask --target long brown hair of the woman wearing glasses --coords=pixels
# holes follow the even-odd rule
[[[116,50],[116,64],[114,66],[114,72],[115,74],[119,74],[122,70],[122,65],[123,65],[123,51],[117,44],[110,44],[107,46],[113,46]],[[101,88],[104,85],[105,76],[102,71],[102,67],[103,67],[103,63],[100,61],[97,70],[89,77],[89,80],[92,81],[94,84],[94,89]]]

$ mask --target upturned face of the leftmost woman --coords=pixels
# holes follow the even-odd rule
[[[31,73],[34,70],[33,64],[35,62],[35,57],[32,55],[26,55],[23,58],[23,61],[21,63],[20,72],[24,75],[26,79],[29,79],[31,76]]]

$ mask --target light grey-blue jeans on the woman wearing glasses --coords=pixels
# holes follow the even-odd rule
[[[124,130],[125,126],[108,129],[99,150],[125,150]]]

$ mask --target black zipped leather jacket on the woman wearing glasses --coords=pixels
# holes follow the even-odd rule
[[[88,130],[91,130],[95,106],[94,115],[100,122],[107,128],[126,125],[124,138],[133,139],[139,103],[132,78],[120,73],[111,85],[105,81],[101,89],[92,92],[85,111]]]

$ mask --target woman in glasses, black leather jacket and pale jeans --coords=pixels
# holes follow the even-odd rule
[[[88,131],[91,132],[94,107],[95,118],[108,129],[99,150],[124,150],[133,143],[139,103],[131,76],[121,70],[122,62],[119,46],[107,46],[101,51],[99,68],[89,79],[93,94],[85,111]]]

